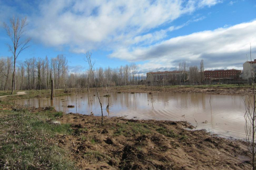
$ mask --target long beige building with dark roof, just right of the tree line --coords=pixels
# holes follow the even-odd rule
[[[146,82],[148,85],[174,84],[180,81],[187,81],[186,71],[157,71],[147,73]]]

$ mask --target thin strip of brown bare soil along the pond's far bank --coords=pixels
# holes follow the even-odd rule
[[[248,86],[124,86],[110,87],[109,92],[203,92],[207,94],[252,94],[252,87]]]

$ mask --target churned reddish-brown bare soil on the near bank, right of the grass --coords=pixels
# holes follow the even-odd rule
[[[70,113],[72,136],[57,135],[59,147],[80,169],[251,169],[246,143],[188,131],[186,122],[101,118]]]

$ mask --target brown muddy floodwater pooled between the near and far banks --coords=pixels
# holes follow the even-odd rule
[[[188,121],[196,129],[206,129],[224,137],[244,139],[245,106],[241,95],[200,93],[107,93],[100,92],[105,116],[124,116],[129,119]],[[109,109],[106,109],[109,103]],[[17,105],[30,107],[53,106],[65,113],[101,115],[96,92],[63,97],[16,100]],[[69,108],[68,105],[74,107]]]

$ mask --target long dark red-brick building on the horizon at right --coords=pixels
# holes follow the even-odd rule
[[[241,75],[241,70],[213,70],[213,71],[204,71],[205,79],[212,79],[212,80],[218,80],[218,79],[225,79],[225,80],[233,80],[233,79],[239,79],[239,76]]]

